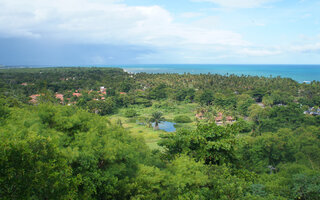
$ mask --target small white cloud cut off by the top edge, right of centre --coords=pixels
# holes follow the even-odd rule
[[[196,2],[211,2],[228,8],[256,8],[276,0],[192,0]]]

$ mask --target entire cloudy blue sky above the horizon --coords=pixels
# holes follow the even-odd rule
[[[0,0],[0,65],[320,64],[320,0]]]

